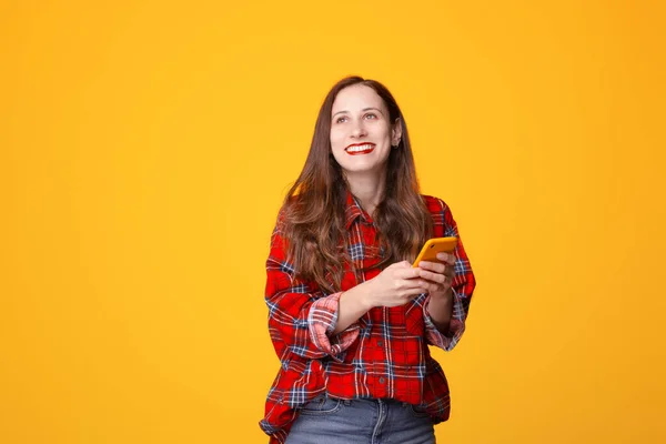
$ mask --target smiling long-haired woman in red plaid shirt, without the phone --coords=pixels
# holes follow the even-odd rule
[[[441,262],[413,261],[457,236]],[[452,350],[475,281],[451,210],[421,195],[405,120],[381,83],[326,95],[266,261],[281,367],[260,425],[271,443],[434,443],[448,385],[428,345]]]

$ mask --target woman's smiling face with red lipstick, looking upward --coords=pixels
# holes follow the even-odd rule
[[[382,172],[400,132],[400,122],[391,124],[384,101],[372,88],[354,84],[337,93],[331,111],[331,149],[347,176]]]

